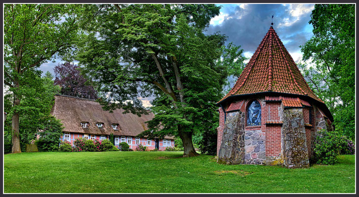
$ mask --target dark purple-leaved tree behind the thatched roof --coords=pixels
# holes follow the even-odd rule
[[[97,99],[97,92],[80,73],[80,67],[66,62],[54,68],[55,85],[61,87],[60,93],[86,99]]]

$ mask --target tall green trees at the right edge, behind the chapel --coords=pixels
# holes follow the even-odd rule
[[[312,89],[333,113],[336,130],[355,138],[355,4],[316,4],[314,36],[302,46],[302,67]]]

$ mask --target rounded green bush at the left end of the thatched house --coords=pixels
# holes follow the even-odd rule
[[[62,136],[62,124],[53,116],[49,116],[47,121],[44,121],[43,130],[39,131],[40,138],[36,141],[36,145],[40,152],[57,151]]]

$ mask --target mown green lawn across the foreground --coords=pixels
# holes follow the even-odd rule
[[[182,152],[4,155],[4,193],[354,193],[355,156],[308,169],[216,164]]]

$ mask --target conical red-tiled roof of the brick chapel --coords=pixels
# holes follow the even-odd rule
[[[273,27],[264,36],[235,86],[219,102],[230,96],[261,92],[305,95],[323,103],[309,88]]]

